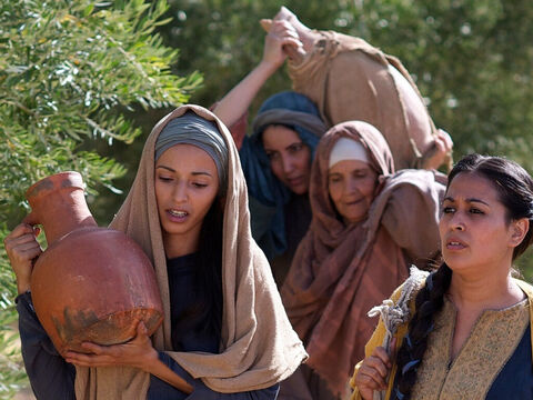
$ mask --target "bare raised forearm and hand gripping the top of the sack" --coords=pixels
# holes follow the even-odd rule
[[[269,34],[264,38],[261,62],[225,94],[213,110],[227,127],[235,123],[247,112],[259,89],[283,64],[286,58],[283,46],[300,48],[302,43],[289,22],[274,21]]]

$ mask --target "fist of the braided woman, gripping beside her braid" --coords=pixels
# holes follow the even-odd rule
[[[375,348],[363,360],[355,376],[355,386],[364,400],[372,400],[374,390],[386,389],[386,377],[391,368],[391,358],[382,347]]]

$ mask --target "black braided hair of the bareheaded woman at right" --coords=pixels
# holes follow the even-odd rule
[[[533,180],[530,174],[514,161],[480,154],[469,154],[453,167],[447,177],[447,188],[460,173],[476,173],[493,182],[500,201],[507,211],[509,221],[530,219],[527,233],[514,248],[513,260],[516,259],[527,249],[533,236]],[[451,281],[452,270],[443,262],[435,272],[430,273],[425,287],[416,294],[416,311],[398,352],[394,393],[399,399],[411,398],[411,390],[416,382],[416,371],[423,362],[428,347],[428,337],[433,331],[433,319],[442,309],[444,293],[450,288]]]

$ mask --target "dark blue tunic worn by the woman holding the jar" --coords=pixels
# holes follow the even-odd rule
[[[194,254],[189,254],[168,261],[172,326],[183,310],[198,301],[192,282],[194,259]],[[36,397],[44,400],[76,399],[76,368],[64,361],[42,329],[33,310],[30,293],[23,293],[17,298],[17,310],[22,358]],[[190,321],[188,329],[183,330],[183,334],[172,337],[173,348],[178,351],[219,352],[220,337],[203,333],[203,330],[200,329],[202,324],[202,320]],[[150,376],[148,400],[274,400],[278,397],[279,384],[250,392],[214,392],[201,380],[193,379],[167,353],[160,352],[159,358],[185,379],[194,388],[194,391],[189,396],[184,394],[169,383]]]

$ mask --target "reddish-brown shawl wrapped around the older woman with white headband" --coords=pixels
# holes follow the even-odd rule
[[[345,226],[328,191],[329,156],[341,137],[363,144],[380,184],[365,221]],[[340,123],[321,139],[311,171],[311,227],[300,243],[282,298],[305,343],[308,364],[342,393],[378,320],[366,312],[439,250],[439,204],[445,186],[425,170],[394,172],[380,132],[361,121]]]

